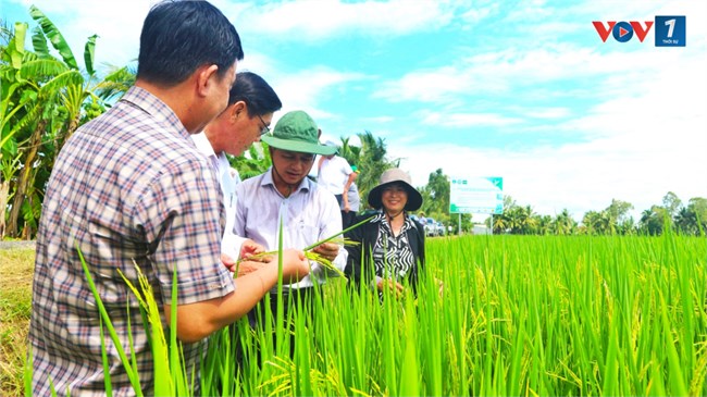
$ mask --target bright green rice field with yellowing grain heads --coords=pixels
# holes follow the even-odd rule
[[[157,376],[209,396],[707,395],[704,237],[467,236],[426,249],[417,296],[380,301],[332,280],[309,315],[214,334],[198,386],[184,369]]]

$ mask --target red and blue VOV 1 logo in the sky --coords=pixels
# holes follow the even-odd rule
[[[609,34],[619,42],[628,42],[634,35],[643,42],[654,21],[645,21],[643,24],[638,21],[607,21],[606,25],[604,22],[593,21],[592,24],[604,42],[609,38]],[[656,15],[656,47],[685,47],[685,15]]]

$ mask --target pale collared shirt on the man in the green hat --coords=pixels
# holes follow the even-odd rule
[[[238,185],[236,195],[235,233],[261,244],[266,250],[277,250],[281,219],[284,249],[302,249],[342,232],[342,213],[336,198],[308,178],[302,179],[289,197],[284,197],[275,188],[270,168],[264,174]],[[343,271],[347,255],[342,247],[333,264]],[[313,281],[322,284],[332,276],[336,273],[312,262],[309,275],[288,287],[310,287]]]

